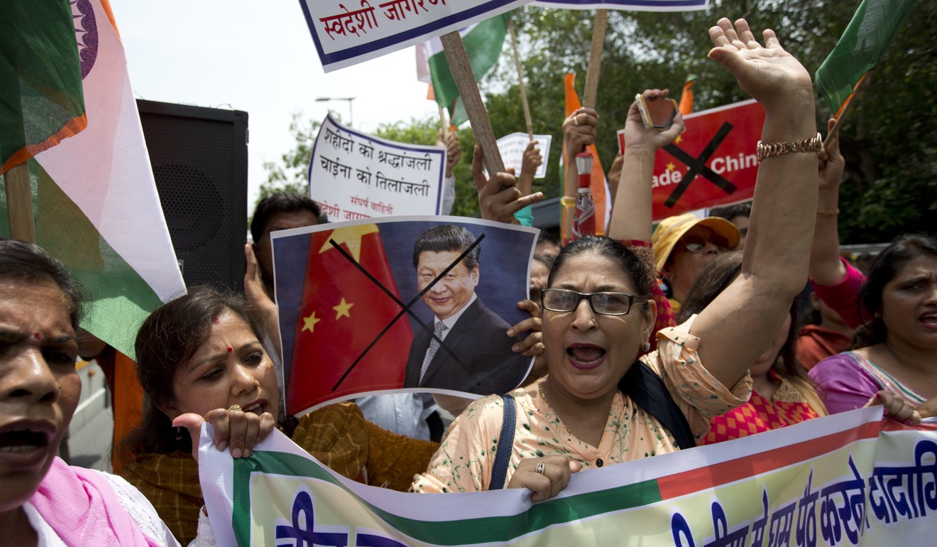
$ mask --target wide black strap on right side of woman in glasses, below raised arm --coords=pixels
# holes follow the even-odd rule
[[[696,446],[687,417],[670,396],[661,376],[644,362],[634,361],[632,368],[618,382],[618,387],[674,435],[677,447],[685,450]]]

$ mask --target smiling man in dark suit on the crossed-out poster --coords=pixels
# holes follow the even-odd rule
[[[423,291],[474,242],[471,232],[452,224],[421,234],[413,245],[418,290]],[[430,327],[445,347],[418,328],[410,345],[404,387],[487,395],[517,386],[528,372],[530,357],[511,349],[520,338],[509,337],[511,326],[475,294],[481,252],[481,246],[475,246],[424,294],[423,301],[434,315]]]

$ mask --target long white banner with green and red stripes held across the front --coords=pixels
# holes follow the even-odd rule
[[[199,471],[219,545],[929,545],[937,428],[881,417],[864,408],[580,472],[537,504],[527,490],[365,486],[279,432],[235,460],[203,426]]]

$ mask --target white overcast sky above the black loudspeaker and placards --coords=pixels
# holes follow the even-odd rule
[[[247,112],[247,204],[264,161],[294,147],[290,116],[331,109],[371,132],[382,122],[438,115],[416,79],[413,48],[329,74],[322,71],[297,0],[111,0],[138,99]]]

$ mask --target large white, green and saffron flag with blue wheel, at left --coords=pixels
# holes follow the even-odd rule
[[[111,6],[108,0],[70,5],[71,47],[81,59],[88,125],[30,160],[37,244],[89,291],[82,327],[133,357],[142,320],[161,302],[184,294],[186,286],[159,205]],[[4,231],[6,214],[6,206],[0,207]]]

